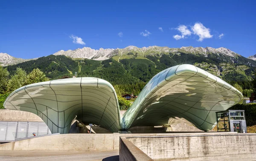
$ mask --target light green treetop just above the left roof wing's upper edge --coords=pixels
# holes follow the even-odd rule
[[[44,82],[48,80],[49,78],[47,78],[40,69],[36,68],[36,69],[33,69],[32,72],[30,72],[26,76],[25,84],[28,85],[28,84]]]

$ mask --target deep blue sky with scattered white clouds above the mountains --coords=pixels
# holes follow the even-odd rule
[[[248,57],[256,54],[255,6],[254,0],[2,0],[0,52],[36,58],[84,46],[210,46]]]

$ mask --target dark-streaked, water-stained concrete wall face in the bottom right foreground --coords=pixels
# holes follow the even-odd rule
[[[256,134],[127,139],[154,160],[256,160]]]

